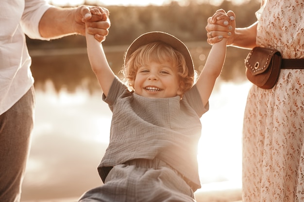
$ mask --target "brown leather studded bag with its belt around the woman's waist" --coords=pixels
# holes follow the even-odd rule
[[[278,50],[254,47],[245,60],[246,77],[263,89],[277,82],[280,69],[304,69],[304,59],[282,59]]]

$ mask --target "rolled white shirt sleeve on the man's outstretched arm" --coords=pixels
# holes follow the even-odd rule
[[[46,0],[25,0],[25,7],[20,24],[28,37],[32,39],[50,40],[40,35],[38,26],[41,17],[51,7],[53,6]]]

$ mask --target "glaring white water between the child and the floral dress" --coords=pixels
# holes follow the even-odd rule
[[[242,119],[250,86],[249,82],[225,82],[212,93],[210,109],[201,118],[198,163],[202,181],[241,186]]]

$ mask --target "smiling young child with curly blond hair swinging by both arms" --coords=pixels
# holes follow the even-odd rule
[[[109,146],[98,167],[104,185],[84,193],[80,202],[195,201],[194,192],[201,187],[200,117],[209,109],[226,39],[213,45],[196,82],[187,47],[168,33],[148,32],[135,39],[125,54],[124,82],[112,72],[101,43],[89,34],[86,41],[113,117]]]

